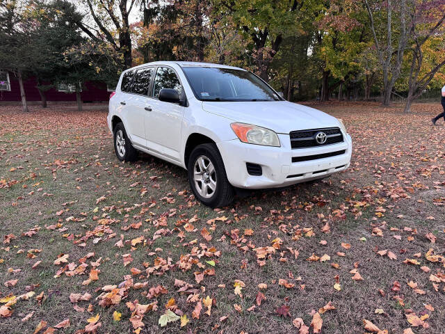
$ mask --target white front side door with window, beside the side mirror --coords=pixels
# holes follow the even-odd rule
[[[172,67],[159,66],[156,69],[152,99],[150,99],[152,111],[145,124],[145,131],[148,135],[147,145],[151,150],[156,150],[166,157],[180,161],[179,150],[181,148],[184,106],[159,101],[159,92],[162,88],[172,88],[177,90],[179,95],[184,94],[181,81]]]

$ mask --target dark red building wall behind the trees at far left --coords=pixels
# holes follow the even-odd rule
[[[10,91],[0,90],[0,102],[21,101],[20,87],[17,77],[9,72]],[[23,81],[27,101],[40,101],[37,79],[30,77]],[[108,101],[110,92],[106,90],[106,84],[100,81],[87,81],[82,88],[81,98],[83,102]],[[47,101],[76,101],[76,93],[59,92],[57,88],[51,88],[45,92]]]

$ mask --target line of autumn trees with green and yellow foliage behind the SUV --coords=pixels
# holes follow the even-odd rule
[[[127,67],[177,60],[245,67],[291,101],[380,95],[389,104],[392,95],[405,95],[409,110],[445,77],[443,6],[442,0],[0,0],[0,67],[37,77],[42,101],[61,77],[79,93],[86,79],[112,86]]]

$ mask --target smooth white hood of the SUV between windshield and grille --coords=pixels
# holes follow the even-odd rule
[[[234,122],[266,127],[279,134],[291,131],[339,127],[337,118],[309,106],[287,101],[202,102],[202,109]]]

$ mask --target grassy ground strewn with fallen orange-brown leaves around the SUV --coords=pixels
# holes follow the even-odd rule
[[[314,106],[350,168],[219,210],[103,108],[1,106],[0,333],[445,333],[442,107]]]

